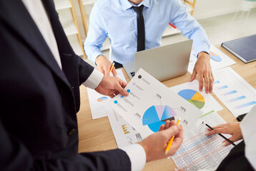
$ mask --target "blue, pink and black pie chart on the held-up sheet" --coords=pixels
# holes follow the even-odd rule
[[[142,124],[156,133],[166,120],[174,120],[175,115],[177,114],[168,105],[152,105],[144,113]]]

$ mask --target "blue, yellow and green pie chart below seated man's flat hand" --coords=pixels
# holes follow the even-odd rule
[[[196,90],[184,89],[179,91],[178,95],[199,109],[205,106],[205,98]]]

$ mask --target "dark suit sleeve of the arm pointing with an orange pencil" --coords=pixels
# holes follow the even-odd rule
[[[123,150],[89,152],[57,159],[34,159],[19,138],[9,134],[0,122],[0,170],[131,170]]]

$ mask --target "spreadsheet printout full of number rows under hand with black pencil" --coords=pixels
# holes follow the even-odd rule
[[[217,113],[210,113],[197,121],[195,127],[184,136],[179,150],[172,156],[172,160],[179,169],[188,171],[216,170],[233,147],[233,145],[222,147],[224,139],[220,135],[205,135],[209,131],[202,122],[213,127],[224,124],[225,120]],[[230,135],[225,135],[225,137],[230,138]]]

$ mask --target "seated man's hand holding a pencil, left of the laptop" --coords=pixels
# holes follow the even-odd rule
[[[97,64],[97,71],[103,73],[106,76],[110,76],[110,68],[112,63],[103,55],[100,55],[96,58],[95,63]],[[116,68],[112,69],[113,76],[117,76]]]

